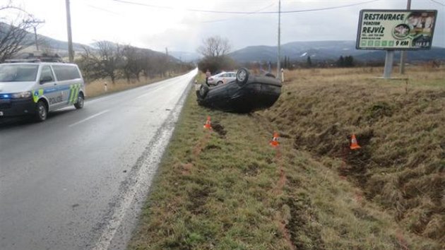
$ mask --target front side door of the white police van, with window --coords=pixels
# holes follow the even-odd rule
[[[63,94],[54,78],[54,73],[48,65],[42,66],[40,72],[40,85],[43,88],[43,95],[49,102],[49,110],[54,110],[63,105]]]

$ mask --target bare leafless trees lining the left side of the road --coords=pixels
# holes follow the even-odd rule
[[[0,5],[0,13],[5,9],[18,11],[18,16],[13,20],[0,18],[0,63],[13,59],[24,49],[37,44],[40,44],[41,54],[54,54],[49,43],[41,36],[37,44],[30,39],[36,25],[32,15],[14,6],[13,1]],[[107,41],[96,42],[93,47],[84,46],[83,52],[76,56],[75,63],[86,81],[109,77],[112,83],[117,78],[126,78],[128,82],[131,79],[140,81],[141,76],[165,77],[194,69],[194,64],[183,63],[167,54]]]

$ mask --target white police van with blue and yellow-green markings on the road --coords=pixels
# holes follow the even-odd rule
[[[0,119],[32,115],[45,121],[55,109],[83,107],[85,83],[76,64],[11,60],[0,64]]]

